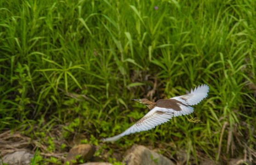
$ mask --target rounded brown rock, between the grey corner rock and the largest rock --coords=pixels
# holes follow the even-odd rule
[[[71,165],[72,164],[71,160],[76,160],[75,159],[76,155],[81,155],[80,158],[87,161],[92,158],[94,153],[95,153],[95,147],[91,146],[90,144],[79,144],[69,150],[66,158],[66,162],[69,161]]]

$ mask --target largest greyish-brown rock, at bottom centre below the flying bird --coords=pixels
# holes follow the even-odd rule
[[[126,165],[174,165],[170,159],[142,145],[132,146],[125,156],[124,163]]]

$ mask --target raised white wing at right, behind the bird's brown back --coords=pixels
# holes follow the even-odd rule
[[[183,104],[188,104],[188,105],[197,105],[205,99],[208,96],[209,92],[209,86],[206,84],[199,85],[197,88],[194,90],[191,88],[190,93],[184,94],[181,96],[176,96],[171,99],[176,99],[178,101],[181,101]]]

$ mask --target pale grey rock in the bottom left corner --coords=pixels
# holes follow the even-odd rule
[[[34,154],[26,151],[16,151],[11,154],[6,154],[3,157],[3,162],[8,165],[30,165],[32,158],[34,158]],[[2,165],[1,161],[0,165]]]

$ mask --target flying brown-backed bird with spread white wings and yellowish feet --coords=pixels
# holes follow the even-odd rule
[[[150,111],[124,132],[114,137],[103,138],[102,142],[114,142],[125,135],[148,131],[155,128],[155,126],[169,121],[172,117],[190,115],[194,111],[193,107],[190,105],[197,105],[200,103],[208,96],[208,92],[209,86],[203,84],[201,86],[199,85],[197,88],[195,87],[194,90],[191,88],[190,93],[170,99],[159,99],[157,102],[149,101],[148,99],[132,99],[146,105]],[[186,116],[186,118],[188,121],[193,123],[201,122],[197,117],[188,119]]]

